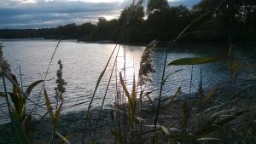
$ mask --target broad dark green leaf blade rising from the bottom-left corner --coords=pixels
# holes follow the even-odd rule
[[[20,120],[15,116],[14,112],[10,112],[10,118],[12,120],[15,141],[19,144],[29,144],[26,132],[23,125],[20,123]]]

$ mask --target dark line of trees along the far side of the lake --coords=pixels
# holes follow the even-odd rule
[[[222,3],[219,5],[219,3]],[[209,13],[209,14],[207,14]],[[185,40],[226,41],[256,39],[255,0],[201,0],[192,8],[169,6],[166,0],[149,0],[146,11],[141,3],[123,9],[118,19],[82,25],[68,24],[55,28],[2,29],[0,38],[76,38],[84,41],[112,40],[127,43],[148,43],[177,37],[191,21],[207,14],[188,30]]]

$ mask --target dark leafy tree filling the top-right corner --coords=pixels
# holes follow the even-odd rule
[[[219,3],[224,2],[222,5]],[[254,0],[202,0],[191,10],[198,17],[209,9],[214,9],[205,20],[201,20],[200,30],[209,30],[215,34],[231,35],[234,38],[248,36],[255,29],[256,1]],[[253,32],[251,32],[253,34]],[[220,37],[216,36],[215,37]],[[224,36],[228,37],[228,36]]]

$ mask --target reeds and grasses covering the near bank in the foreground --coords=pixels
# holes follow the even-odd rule
[[[133,3],[136,4],[136,3]],[[221,4],[221,3],[220,3]],[[62,64],[59,61],[59,70],[57,70],[57,81],[55,88],[55,101],[56,105],[52,105],[50,96],[46,89],[44,89],[44,80],[38,80],[32,83],[26,91],[23,91],[22,84],[17,83],[15,75],[11,74],[9,65],[3,58],[1,50],[1,77],[3,78],[4,92],[1,92],[1,96],[5,98],[8,108],[9,117],[11,119],[13,134],[15,135],[16,143],[39,143],[41,141],[32,141],[33,137],[28,124],[32,124],[31,118],[32,112],[27,112],[26,101],[31,101],[29,95],[34,87],[38,84],[42,84],[42,90],[44,93],[45,116],[49,115],[50,133],[49,140],[44,140],[44,143],[97,143],[101,141],[97,131],[102,130],[100,128],[102,114],[109,112],[108,118],[111,121],[108,124],[108,128],[111,130],[104,131],[104,133],[111,134],[109,141],[115,144],[140,144],[140,143],[183,143],[183,144],[201,144],[201,143],[256,143],[256,112],[253,106],[253,98],[244,93],[247,89],[251,88],[250,85],[244,85],[244,87],[235,87],[236,78],[239,71],[244,68],[247,63],[241,58],[236,59],[231,57],[233,45],[230,38],[230,48],[226,57],[191,57],[183,58],[173,61],[167,61],[168,52],[172,48],[177,40],[187,36],[189,27],[201,20],[208,13],[212,12],[210,9],[206,14],[201,15],[198,19],[192,21],[189,26],[185,27],[176,39],[168,43],[166,49],[165,61],[163,63],[163,72],[160,83],[159,96],[154,100],[151,100],[148,95],[152,94],[152,91],[143,89],[143,84],[150,83],[150,74],[154,72],[152,66],[151,56],[152,49],[156,45],[156,41],[148,44],[146,47],[140,64],[139,78],[136,79],[133,76],[132,88],[127,88],[125,63],[125,41],[122,44],[116,44],[112,54],[109,56],[106,66],[103,67],[102,73],[97,79],[94,93],[91,97],[90,103],[84,107],[87,107],[87,111],[84,110],[84,123],[80,123],[83,129],[77,132],[81,134],[78,137],[73,136],[73,132],[61,134],[58,129],[61,127],[61,110],[64,103],[62,94],[65,93],[66,82],[62,76]],[[127,19],[129,20],[129,19]],[[126,22],[124,21],[124,24]],[[125,26],[124,26],[125,27]],[[123,30],[125,31],[125,30]],[[187,32],[187,33],[186,33]],[[123,32],[125,33],[125,32]],[[125,36],[124,36],[125,40]],[[58,48],[59,41],[52,55],[49,65],[51,64]],[[120,47],[124,47],[124,71],[117,71],[117,64],[119,63],[117,57],[119,55]],[[115,53],[117,49],[117,52]],[[108,78],[108,85],[102,96],[102,104],[96,114],[91,109],[91,106],[95,100],[96,90],[101,83],[101,80],[105,76],[105,72],[109,66],[110,60],[114,61],[111,67],[111,74]],[[229,89],[223,87],[213,87],[210,90],[203,89],[202,71],[201,79],[199,83],[199,89],[195,97],[186,97],[184,99],[177,99],[178,97],[185,97],[182,95],[181,86],[177,89],[174,95],[170,95],[163,99],[162,91],[166,80],[174,73],[182,71],[182,69],[176,72],[166,75],[167,66],[183,66],[191,65],[207,65],[207,63],[216,62],[218,60],[226,61],[229,63],[227,68],[230,70]],[[49,66],[47,72],[49,72]],[[65,71],[64,71],[65,72]],[[115,101],[112,107],[104,109],[106,96],[108,94],[108,86],[111,84],[111,79],[115,78],[116,95]],[[193,70],[191,72],[191,81],[193,78]],[[8,92],[6,89],[6,79],[12,83],[12,92]],[[21,71],[20,71],[20,79]],[[191,84],[190,84],[191,85]],[[191,85],[192,86],[192,85]],[[190,87],[191,87],[190,86]],[[232,90],[227,92],[227,90]],[[39,95],[40,96],[40,95]],[[227,97],[228,99],[222,100],[221,98]],[[10,99],[9,99],[10,98]],[[39,99],[39,98],[38,98]],[[146,100],[148,99],[148,100]],[[127,101],[127,102],[126,102]],[[35,107],[38,106],[38,102],[32,102]],[[34,108],[33,111],[36,111]],[[96,117],[96,120],[93,120]],[[68,122],[67,122],[68,123]],[[107,134],[106,134],[107,135]],[[59,139],[57,139],[57,137]],[[43,138],[44,139],[44,138]]]

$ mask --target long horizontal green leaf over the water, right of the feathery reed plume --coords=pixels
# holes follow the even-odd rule
[[[167,66],[180,66],[180,65],[200,65],[218,61],[215,57],[195,57],[195,58],[182,58],[173,60]]]

